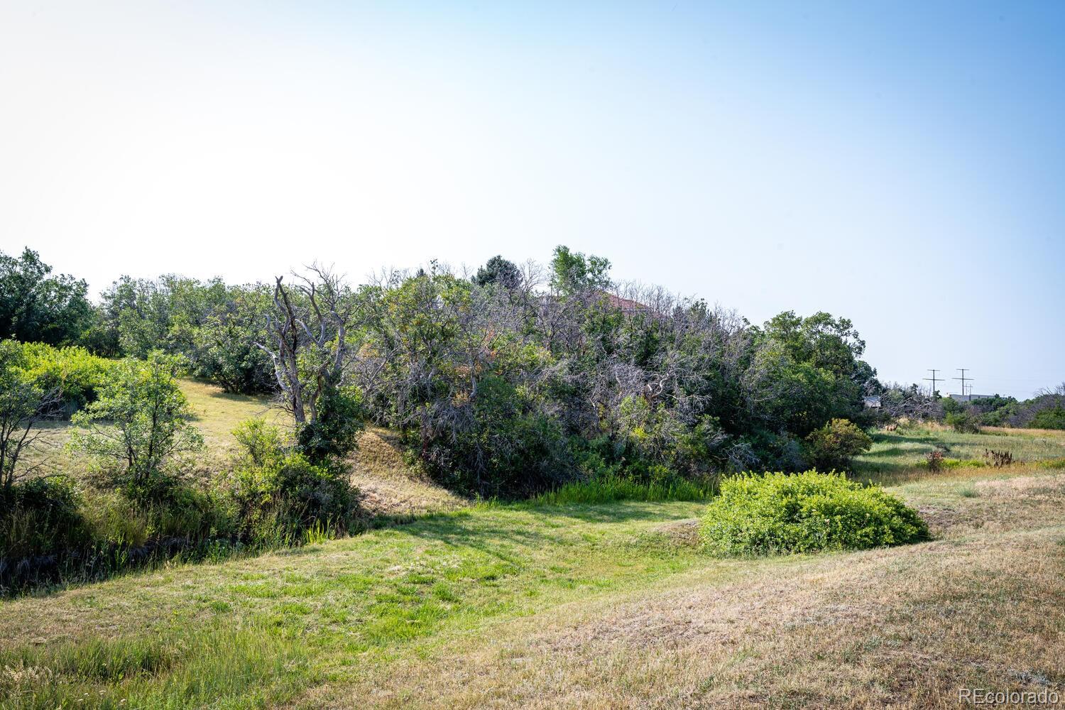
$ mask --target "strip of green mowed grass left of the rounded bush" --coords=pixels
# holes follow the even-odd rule
[[[48,676],[54,693],[39,683],[10,688],[21,694],[6,703],[280,703],[294,689],[424,657],[491,620],[644,587],[701,563],[649,532],[697,510],[466,509],[255,559],[5,601],[0,666],[61,668]]]

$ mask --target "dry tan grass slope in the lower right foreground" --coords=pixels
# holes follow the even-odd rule
[[[958,706],[964,687],[1062,691],[1065,476],[977,488],[977,497],[955,494],[955,514],[927,544],[718,562],[658,589],[493,625],[402,673],[381,667],[355,688],[320,688],[304,700],[946,708]],[[934,489],[914,497],[947,498]],[[683,540],[690,527],[656,530]]]

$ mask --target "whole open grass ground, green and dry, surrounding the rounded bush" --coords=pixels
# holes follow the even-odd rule
[[[265,407],[194,395],[216,456]],[[986,441],[1026,462],[919,465]],[[879,434],[861,476],[931,542],[751,560],[698,549],[698,502],[470,506],[388,432],[364,442],[356,481],[413,523],[0,601],[0,707],[925,708],[1065,684],[1056,434]]]

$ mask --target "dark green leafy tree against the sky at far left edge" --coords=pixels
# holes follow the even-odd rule
[[[18,258],[0,252],[0,337],[61,345],[78,341],[89,327],[88,286],[51,273],[30,248]]]

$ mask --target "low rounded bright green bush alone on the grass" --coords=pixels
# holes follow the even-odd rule
[[[928,527],[883,489],[842,474],[744,474],[725,479],[701,534],[719,555],[866,549],[928,539]]]

